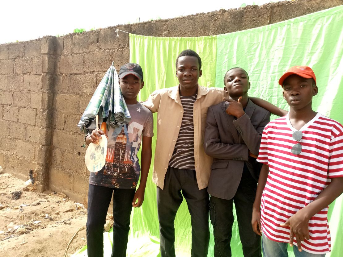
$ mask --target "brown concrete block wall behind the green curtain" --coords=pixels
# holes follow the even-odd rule
[[[295,0],[219,10],[168,20],[118,25],[133,34],[208,36],[268,25],[343,4]],[[0,166],[26,179],[37,173],[40,190],[86,197],[81,115],[112,61],[129,62],[129,36],[108,27],[63,37],[0,45]]]

